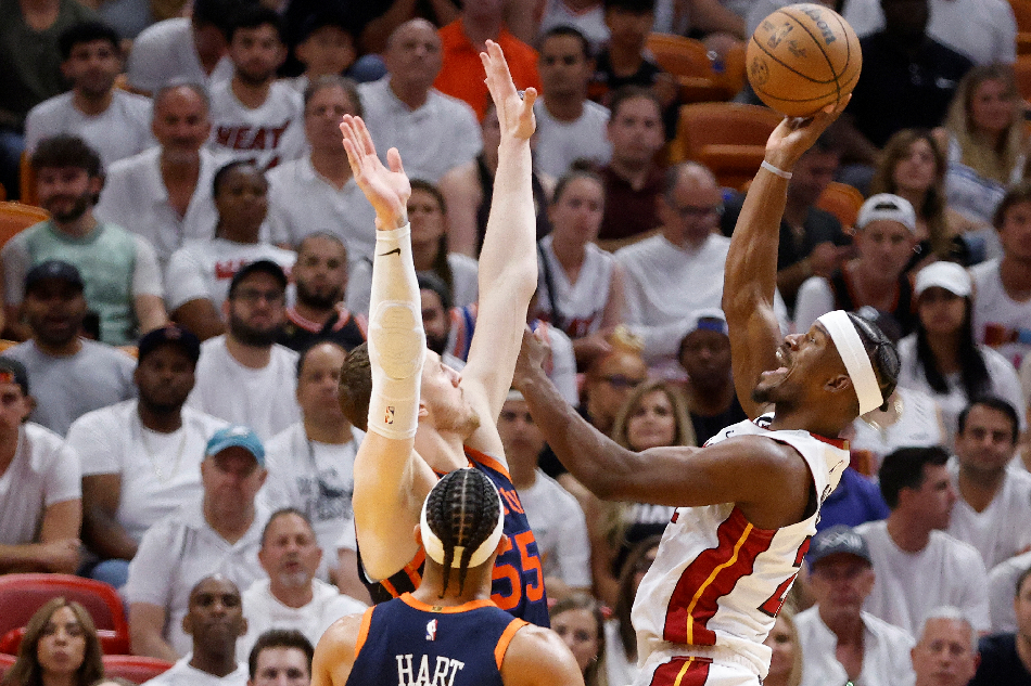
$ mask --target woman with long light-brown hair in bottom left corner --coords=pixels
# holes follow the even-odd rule
[[[93,620],[78,603],[53,598],[25,627],[3,686],[90,686],[104,676]]]

